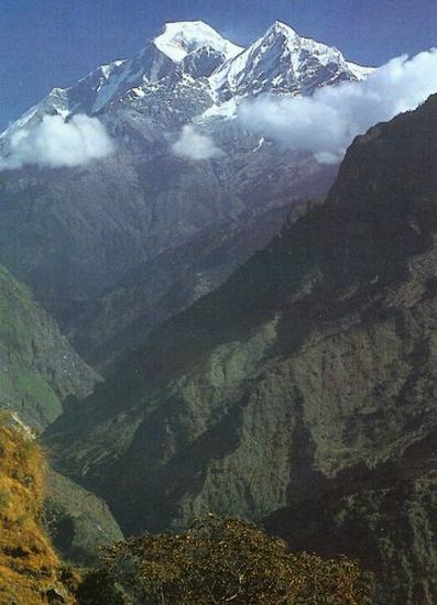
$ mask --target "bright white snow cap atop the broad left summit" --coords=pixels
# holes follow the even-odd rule
[[[155,46],[175,63],[184,61],[192,52],[210,46],[232,58],[243,48],[222,37],[204,21],[179,21],[166,23],[162,33],[153,41]]]

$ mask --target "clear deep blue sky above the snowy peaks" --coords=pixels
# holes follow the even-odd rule
[[[164,22],[195,19],[240,44],[280,19],[369,65],[437,46],[436,0],[0,0],[0,129]]]

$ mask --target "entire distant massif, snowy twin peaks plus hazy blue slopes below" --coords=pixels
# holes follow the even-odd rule
[[[176,257],[181,246],[197,246],[200,256],[189,262],[203,263],[204,285],[212,289],[234,270],[234,261],[219,257],[228,234],[232,238],[251,221],[261,224],[265,211],[283,207],[284,200],[324,197],[332,184],[336,167],[248,133],[236,119],[240,101],[262,92],[310,95],[369,73],[282,23],[245,50],[201,22],[167,24],[132,59],[101,66],[68,89],[54,89],[0,135],[4,155],[11,136],[44,116],[68,120],[87,113],[99,118],[116,143],[113,155],[86,166],[3,172],[0,262],[32,287],[87,361],[108,361],[100,359],[102,351],[110,358],[121,351],[112,351],[95,329],[95,322],[112,321],[111,307],[109,317],[102,307],[96,318],[96,298],[117,297],[120,283],[131,279],[136,267],[140,280],[145,265],[168,254]],[[190,160],[190,144],[182,157],[174,153],[187,124],[214,142],[203,160]],[[267,221],[263,241],[256,229],[252,237],[249,230],[239,263],[275,232],[274,221]],[[205,238],[210,243],[198,246]],[[211,257],[221,264],[219,278]],[[163,295],[173,297],[186,257],[181,263],[165,293],[161,282],[151,283],[153,305],[160,306]],[[198,292],[204,289],[194,285],[172,312]],[[124,314],[120,332],[138,333],[138,319]],[[116,337],[121,342],[122,334]]]

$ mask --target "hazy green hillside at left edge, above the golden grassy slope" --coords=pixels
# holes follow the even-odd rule
[[[98,380],[30,292],[0,266],[0,408],[43,429],[67,395],[85,397]]]

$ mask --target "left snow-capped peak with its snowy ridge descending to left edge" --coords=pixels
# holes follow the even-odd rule
[[[69,88],[54,88],[3,133],[10,134],[45,114],[67,118],[99,113],[127,91],[146,87],[175,73],[194,78],[209,76],[243,51],[201,21],[165,24],[163,32],[131,59],[101,65]]]

